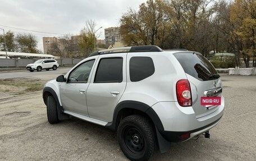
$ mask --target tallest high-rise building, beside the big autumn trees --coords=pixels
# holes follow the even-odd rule
[[[107,45],[113,45],[115,42],[121,42],[120,27],[109,27],[105,29],[105,40]]]

